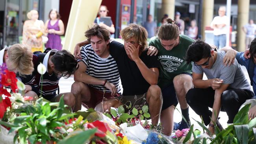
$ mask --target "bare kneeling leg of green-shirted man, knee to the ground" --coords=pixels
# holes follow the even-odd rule
[[[173,131],[173,114],[175,107],[171,105],[167,109],[161,111],[160,122],[163,127],[163,134],[169,136]]]

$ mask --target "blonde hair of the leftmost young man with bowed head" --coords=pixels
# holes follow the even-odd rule
[[[17,69],[20,75],[30,75],[34,70],[33,53],[24,44],[13,44],[7,51],[10,70]]]

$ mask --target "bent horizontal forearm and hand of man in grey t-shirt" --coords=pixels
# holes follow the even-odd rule
[[[192,78],[194,87],[201,89],[206,89],[208,87],[218,89],[223,83],[223,80],[218,78],[203,80],[203,74],[197,74],[195,72],[192,73]]]

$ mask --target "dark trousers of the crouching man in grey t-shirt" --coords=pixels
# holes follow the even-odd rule
[[[211,122],[211,111],[208,107],[213,107],[214,94],[215,90],[211,87],[190,89],[186,94],[187,103],[195,113],[202,116],[206,126]],[[228,114],[228,124],[233,123],[239,107],[252,96],[251,91],[243,89],[228,89],[221,94],[221,111]]]

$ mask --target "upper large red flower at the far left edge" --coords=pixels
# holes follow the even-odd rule
[[[10,72],[9,70],[4,70],[6,74],[2,74],[2,85],[4,86],[11,86],[11,90],[15,92],[17,87],[17,79],[14,72]]]

